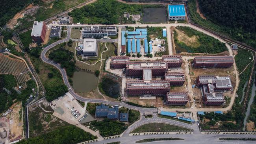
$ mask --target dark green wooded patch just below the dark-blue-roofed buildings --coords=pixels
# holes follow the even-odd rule
[[[94,120],[83,125],[90,126],[89,128],[94,131],[97,129],[102,137],[120,135],[127,129],[123,122],[109,120],[108,118],[104,118],[103,121]]]

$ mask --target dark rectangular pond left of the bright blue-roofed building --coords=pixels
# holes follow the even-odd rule
[[[167,22],[167,10],[166,7],[159,8],[145,8],[143,9],[143,22],[160,23]]]

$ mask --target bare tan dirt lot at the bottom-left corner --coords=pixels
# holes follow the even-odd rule
[[[4,138],[6,132],[8,142],[13,142],[24,138],[23,119],[22,119],[22,103],[14,103],[10,108],[11,112],[0,119],[0,133]],[[3,139],[0,138],[0,142]]]

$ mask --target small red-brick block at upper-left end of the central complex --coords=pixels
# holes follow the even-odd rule
[[[123,69],[126,68],[126,62],[130,59],[129,56],[113,56],[111,57],[110,68],[111,69]]]

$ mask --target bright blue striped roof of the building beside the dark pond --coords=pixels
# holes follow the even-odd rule
[[[168,5],[169,16],[185,16],[185,7],[183,4],[180,5]]]

